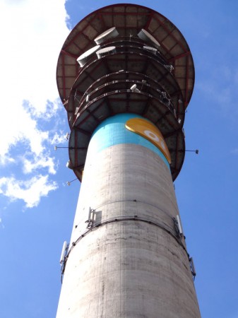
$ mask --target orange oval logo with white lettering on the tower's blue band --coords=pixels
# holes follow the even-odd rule
[[[126,128],[133,131],[134,133],[143,136],[153,143],[160,151],[165,155],[165,158],[171,163],[171,157],[169,149],[165,143],[161,132],[154,124],[151,124],[145,119],[133,118],[126,122]]]

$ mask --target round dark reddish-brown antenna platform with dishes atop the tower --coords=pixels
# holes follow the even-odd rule
[[[160,129],[176,179],[184,163],[183,124],[194,62],[173,23],[136,4],[100,8],[67,37],[56,79],[71,128],[70,167],[78,179],[93,131],[119,113],[139,114]]]

